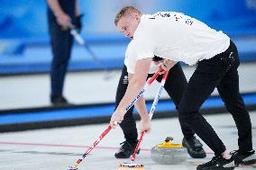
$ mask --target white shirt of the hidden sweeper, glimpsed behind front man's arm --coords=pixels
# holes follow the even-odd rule
[[[149,58],[152,58],[152,57],[154,56],[150,56]],[[134,40],[131,40],[125,51],[125,58],[124,58],[124,65],[127,67],[128,73],[134,74],[136,62],[137,62],[137,53],[136,53],[135,43],[134,43]],[[153,74],[157,72],[158,69],[159,67],[155,65],[154,62],[152,61],[149,74]]]

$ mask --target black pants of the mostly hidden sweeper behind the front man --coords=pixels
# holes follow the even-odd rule
[[[160,82],[161,78],[162,76],[159,76],[157,78],[157,81]],[[115,108],[118,106],[118,104],[122,100],[127,86],[128,86],[128,73],[127,73],[126,67],[123,66],[122,75],[120,77],[116,95],[115,95]],[[175,103],[177,109],[178,109],[178,103],[181,100],[182,94],[185,91],[186,86],[187,86],[187,79],[183,73],[182,68],[179,66],[179,64],[177,64],[176,66],[172,67],[169,70],[169,76],[164,85],[165,90],[171,97],[173,103]],[[191,130],[186,125],[186,123],[184,123],[182,120],[180,121],[180,126],[185,138],[189,139],[195,135],[195,132]],[[133,108],[131,108],[128,112],[126,112],[122,123],[120,123],[120,127],[123,130],[124,138],[126,140],[133,142],[138,138],[136,124],[133,119]]]

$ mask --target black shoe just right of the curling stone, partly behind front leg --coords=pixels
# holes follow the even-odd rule
[[[193,158],[204,158],[206,157],[206,151],[203,148],[203,145],[201,142],[196,139],[196,137],[193,137],[191,139],[185,139],[182,140],[183,147],[187,148],[187,153],[190,157]]]

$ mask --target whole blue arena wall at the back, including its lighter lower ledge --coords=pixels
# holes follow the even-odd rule
[[[123,67],[129,40],[116,31],[114,16],[125,5],[134,5],[142,13],[186,13],[231,36],[242,62],[256,61],[256,0],[79,0],[79,4],[84,13],[82,37],[103,64],[96,63],[87,50],[75,44],[69,70]],[[46,10],[45,0],[0,1],[0,76],[49,72]]]

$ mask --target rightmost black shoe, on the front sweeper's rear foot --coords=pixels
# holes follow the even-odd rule
[[[234,150],[231,154],[233,155],[235,166],[248,166],[256,163],[255,150],[246,153],[240,153],[238,150]]]

